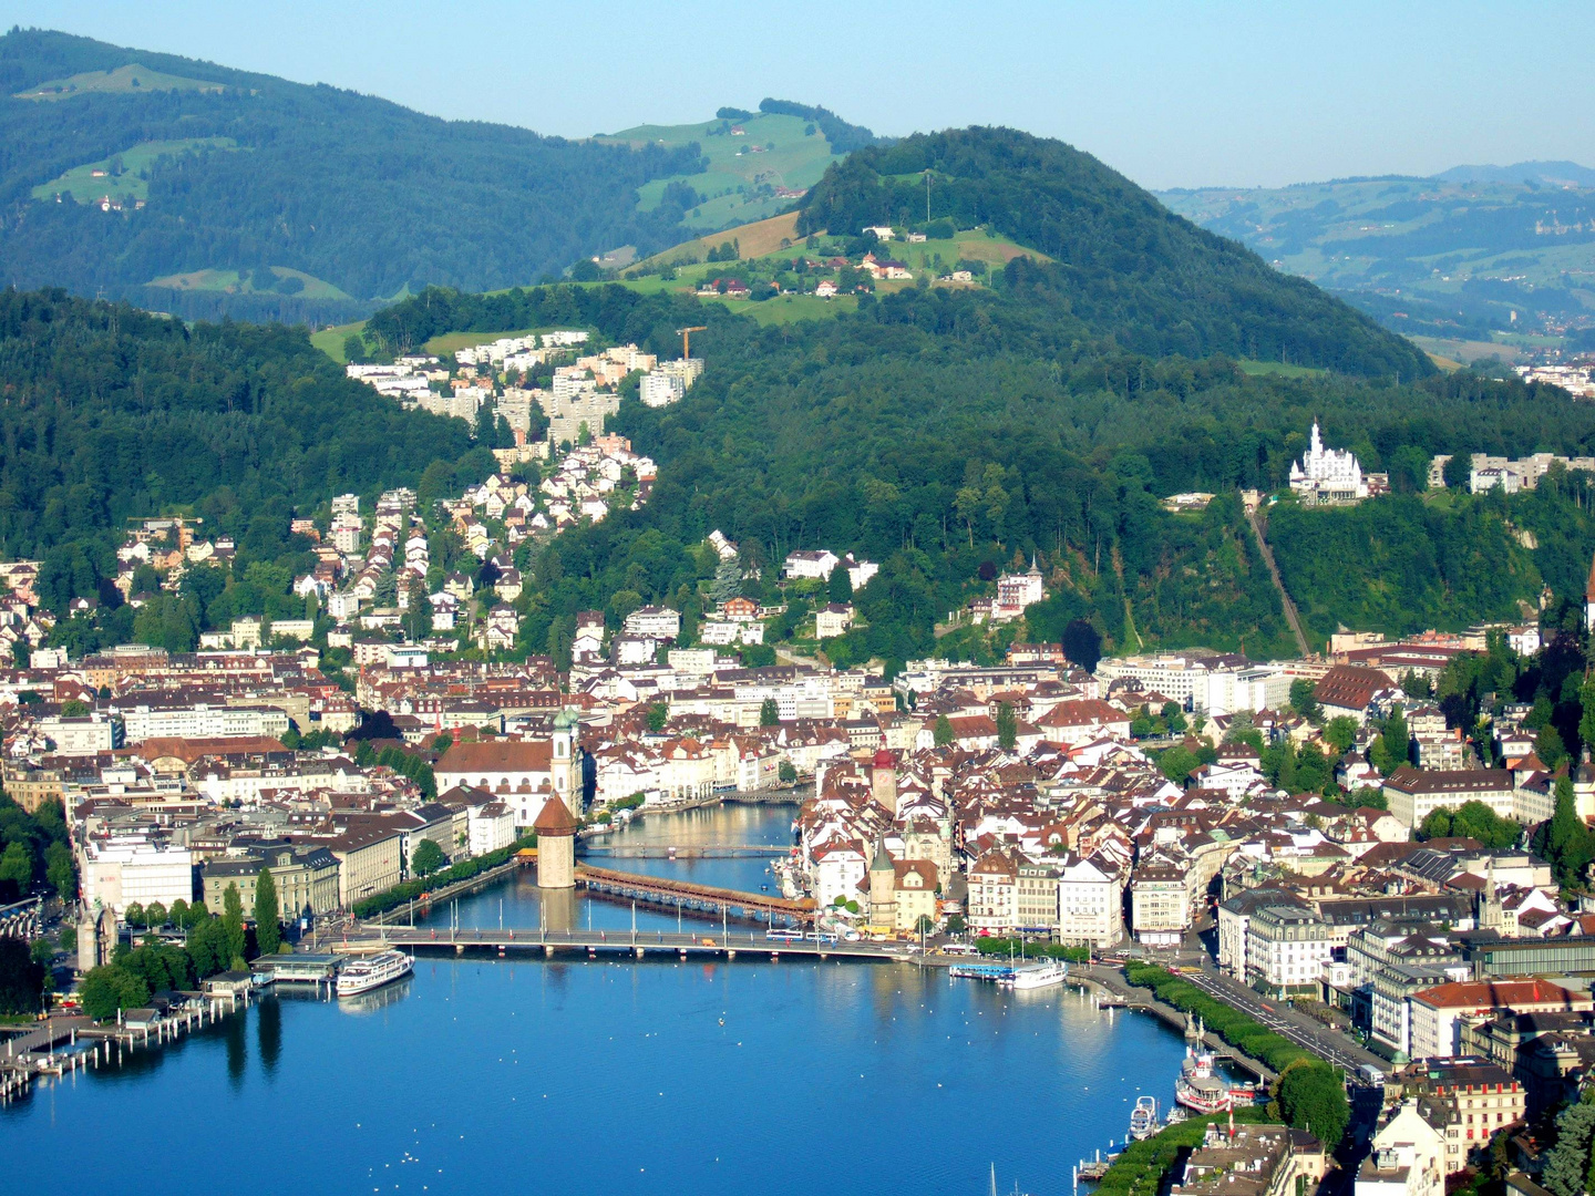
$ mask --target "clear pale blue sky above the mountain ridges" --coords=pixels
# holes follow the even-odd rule
[[[585,136],[764,96],[877,132],[1011,124],[1147,187],[1595,164],[1595,3],[0,0],[0,27]]]

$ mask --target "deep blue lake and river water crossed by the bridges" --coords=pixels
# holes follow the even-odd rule
[[[785,844],[793,807],[644,818],[611,842]],[[598,861],[595,861],[598,863]],[[772,883],[764,860],[606,866]],[[630,927],[628,903],[545,911],[526,874],[439,925]],[[675,927],[638,911],[640,928]],[[1179,1035],[1072,989],[1010,993],[903,963],[643,963],[423,955],[362,1006],[268,997],[247,1016],[0,1111],[0,1147],[64,1191],[1069,1191],[1172,1099]]]

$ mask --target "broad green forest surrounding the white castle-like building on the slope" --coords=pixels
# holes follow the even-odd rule
[[[687,399],[627,402],[616,424],[660,462],[651,504],[561,536],[536,563],[522,604],[539,651],[617,593],[691,608],[715,571],[691,545],[719,528],[767,566],[764,585],[798,547],[884,563],[858,595],[868,625],[828,643],[842,660],[992,651],[967,631],[938,643],[933,625],[989,588],[983,574],[1032,555],[1053,596],[1030,611],[1030,635],[1057,639],[1088,619],[1110,646],[1286,654],[1236,491],[1282,488],[1314,418],[1399,491],[1349,510],[1274,509],[1270,541],[1314,638],[1340,624],[1515,617],[1546,584],[1581,593],[1595,547],[1582,482],[1512,499],[1420,493],[1434,453],[1589,451],[1587,403],[1466,372],[1396,386],[1129,354],[1038,301],[1029,277],[1019,260],[997,290],[909,290],[857,316],[770,329],[619,285],[429,290],[367,332],[397,349],[448,329],[581,322],[673,352],[675,329],[708,325],[694,348],[710,368]],[[1160,506],[1190,490],[1219,498],[1199,515]],[[1523,547],[1523,529],[1539,547]]]

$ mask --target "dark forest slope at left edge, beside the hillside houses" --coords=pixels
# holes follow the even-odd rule
[[[190,329],[61,290],[0,292],[0,557],[43,558],[40,596],[57,611],[115,601],[129,517],[199,515],[238,541],[242,572],[292,558],[289,521],[333,494],[486,456],[463,421],[345,378],[303,329]]]

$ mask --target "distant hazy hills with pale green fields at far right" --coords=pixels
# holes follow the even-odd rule
[[[1163,191],[1180,215],[1458,360],[1595,348],[1595,185],[1571,163]]]

